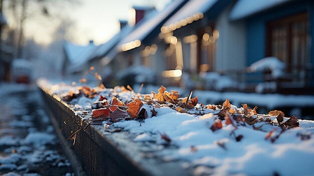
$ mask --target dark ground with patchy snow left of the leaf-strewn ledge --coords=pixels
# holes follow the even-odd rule
[[[0,175],[74,175],[34,87],[0,85]]]

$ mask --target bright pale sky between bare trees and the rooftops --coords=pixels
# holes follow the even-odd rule
[[[153,6],[162,10],[171,0],[81,0],[73,8],[62,9],[62,13],[74,22],[70,28],[71,41],[86,45],[94,40],[96,45],[105,43],[119,32],[118,20],[127,20],[129,9],[135,6]],[[63,7],[61,7],[63,8]],[[54,38],[52,34],[60,24],[58,19],[42,21],[29,21],[25,36],[34,38],[37,43],[49,44]]]

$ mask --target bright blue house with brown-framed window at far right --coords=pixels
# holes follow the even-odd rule
[[[276,57],[286,65],[286,76],[277,85],[279,92],[312,92],[314,1],[239,0],[230,20],[245,24],[246,67]]]

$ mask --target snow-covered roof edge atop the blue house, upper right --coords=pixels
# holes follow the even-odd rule
[[[230,12],[231,20],[239,20],[292,0],[239,0]]]

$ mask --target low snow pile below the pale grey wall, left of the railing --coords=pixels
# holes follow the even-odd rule
[[[237,88],[238,83],[234,80],[232,80],[228,76],[220,75],[217,72],[208,72],[204,75],[201,75],[201,77],[205,81],[205,88],[206,89],[214,89],[218,91],[222,91],[226,88]]]

